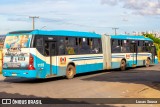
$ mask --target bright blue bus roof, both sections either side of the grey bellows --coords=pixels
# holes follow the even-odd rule
[[[10,32],[8,35],[15,34],[32,34],[32,35],[48,35],[48,36],[72,36],[72,37],[93,37],[101,38],[100,34],[94,32],[80,32],[80,31],[69,31],[69,30],[24,30],[24,31],[14,31]],[[146,40],[153,41],[150,38],[144,36],[135,36],[135,35],[111,35],[112,39],[123,39],[123,40]]]

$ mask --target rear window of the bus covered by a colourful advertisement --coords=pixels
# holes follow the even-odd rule
[[[6,36],[4,48],[29,48],[30,35],[8,35]]]

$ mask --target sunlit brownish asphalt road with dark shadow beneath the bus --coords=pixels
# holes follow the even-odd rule
[[[50,79],[5,78],[1,98],[160,98],[160,64]]]

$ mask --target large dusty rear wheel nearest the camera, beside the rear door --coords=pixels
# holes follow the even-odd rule
[[[68,65],[66,69],[66,77],[67,79],[72,79],[75,75],[75,67],[73,65]]]

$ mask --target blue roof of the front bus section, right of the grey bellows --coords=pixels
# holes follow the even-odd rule
[[[153,41],[150,38],[141,36],[141,35],[111,35],[112,39],[123,39],[123,40],[146,40],[146,41]]]

